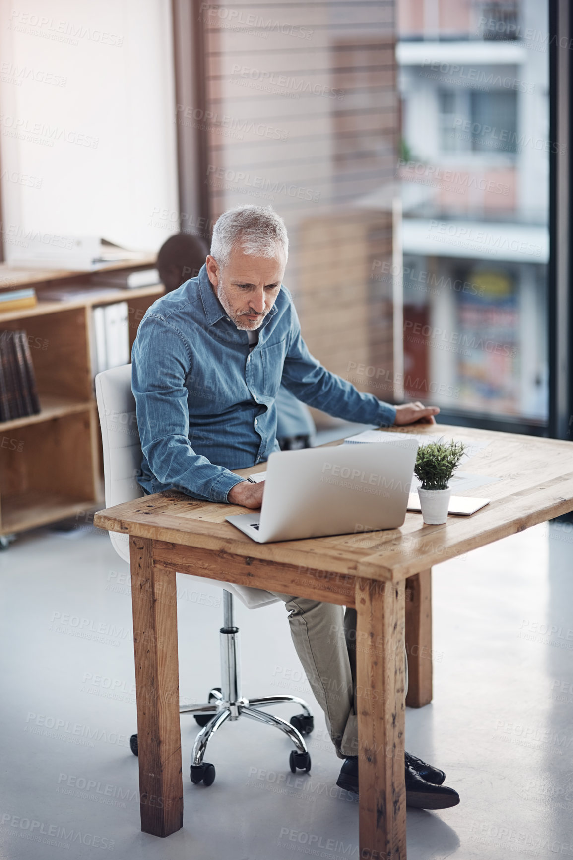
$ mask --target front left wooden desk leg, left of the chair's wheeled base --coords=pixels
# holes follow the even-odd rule
[[[183,826],[177,593],[174,570],[155,568],[153,542],[130,538],[141,829]]]

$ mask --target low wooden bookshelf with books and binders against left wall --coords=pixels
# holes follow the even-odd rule
[[[155,266],[155,257],[105,267],[109,272]],[[101,270],[98,270],[101,271]],[[42,300],[57,286],[89,289],[89,273],[21,270],[0,264],[0,288],[34,286],[38,304],[0,313],[0,330],[24,329],[40,395],[40,413],[0,421],[0,536],[101,507],[101,435],[94,398],[92,309],[125,301],[130,346],[145,310],[163,287],[118,289],[61,301]]]

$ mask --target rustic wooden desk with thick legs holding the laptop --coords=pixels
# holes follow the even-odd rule
[[[131,535],[143,831],[168,836],[183,825],[179,571],[356,606],[360,857],[405,860],[402,654],[406,642],[407,703],[423,705],[431,698],[431,566],[573,509],[570,442],[437,429],[447,439],[451,433],[488,442],[463,470],[502,479],[474,493],[491,498],[490,505],[469,518],[449,517],[445,525],[424,525],[419,513],[409,513],[395,530],[255,544],[224,522],[243,508],[182,494],[149,495],[96,514],[96,525]],[[390,432],[436,433],[436,427]],[[265,464],[238,474],[263,469]],[[151,796],[163,799],[162,808],[146,802]]]

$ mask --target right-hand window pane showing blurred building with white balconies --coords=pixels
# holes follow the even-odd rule
[[[449,415],[541,431],[546,0],[398,9],[406,393],[431,394]]]

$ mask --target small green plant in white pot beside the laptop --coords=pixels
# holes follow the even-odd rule
[[[454,471],[460,465],[466,445],[463,442],[429,442],[420,445],[414,473],[421,486],[418,488],[420,507],[424,523],[441,525],[448,519],[449,497],[452,494],[448,486]]]

